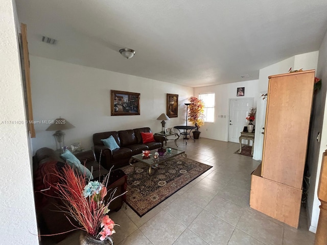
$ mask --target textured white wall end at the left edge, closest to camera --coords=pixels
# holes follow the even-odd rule
[[[29,137],[18,52],[16,7],[0,5],[0,197],[1,244],[38,244],[30,168]]]

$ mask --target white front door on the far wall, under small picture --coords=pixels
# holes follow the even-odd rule
[[[239,142],[244,126],[247,126],[245,118],[251,107],[253,107],[253,98],[229,100],[228,141]]]

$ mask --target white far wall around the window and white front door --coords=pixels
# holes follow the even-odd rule
[[[236,96],[238,87],[245,87],[244,96]],[[201,137],[227,141],[229,99],[254,98],[254,105],[256,105],[259,93],[258,80],[194,88],[196,97],[199,93],[212,92],[215,93],[215,122],[205,122],[200,129]],[[218,117],[219,115],[226,115],[226,117]]]

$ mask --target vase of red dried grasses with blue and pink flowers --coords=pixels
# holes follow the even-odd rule
[[[67,214],[69,222],[73,225],[75,219],[83,230],[80,235],[81,245],[106,244],[112,245],[114,226],[119,226],[109,217],[110,203],[120,197],[113,198],[114,189],[107,194],[110,172],[102,182],[90,181],[83,173],[77,173],[71,166],[65,164],[55,170],[57,183],[49,183],[54,188],[63,205],[60,207]],[[126,193],[126,192],[125,192]],[[125,194],[123,193],[123,194]]]

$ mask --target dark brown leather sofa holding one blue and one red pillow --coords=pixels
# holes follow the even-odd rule
[[[128,164],[131,156],[142,153],[144,150],[154,150],[164,145],[165,136],[153,135],[155,142],[143,143],[142,133],[151,133],[150,128],[139,128],[131,130],[110,131],[96,133],[93,135],[94,150],[97,160],[100,159],[101,165],[106,169],[111,166],[118,168]],[[113,136],[119,149],[110,150],[103,144],[101,139]]]

